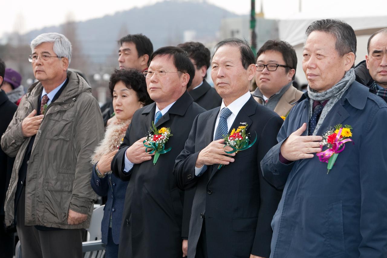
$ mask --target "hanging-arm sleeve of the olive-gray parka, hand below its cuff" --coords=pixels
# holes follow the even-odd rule
[[[101,111],[97,100],[90,96],[83,100],[77,124],[75,125],[74,152],[77,155],[75,179],[70,209],[87,214],[96,195],[90,185],[92,166],[90,157],[104,135]]]

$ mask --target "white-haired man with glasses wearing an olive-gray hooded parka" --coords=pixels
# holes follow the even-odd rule
[[[32,84],[2,136],[15,157],[5,200],[5,223],[16,224],[22,255],[81,257],[82,229],[93,199],[90,157],[104,134],[98,102],[75,72],[67,71],[71,43],[45,33],[31,42]]]

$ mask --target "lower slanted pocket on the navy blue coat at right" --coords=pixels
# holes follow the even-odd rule
[[[342,202],[331,203],[327,207],[327,243],[329,257],[341,255],[345,251],[342,226]]]

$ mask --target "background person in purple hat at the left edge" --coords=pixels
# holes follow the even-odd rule
[[[14,69],[5,69],[5,75],[3,78],[3,84],[1,89],[7,93],[10,101],[19,105],[22,97],[24,96],[24,87],[21,85],[22,76]]]

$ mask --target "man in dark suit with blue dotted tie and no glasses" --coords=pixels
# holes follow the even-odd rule
[[[190,258],[269,257],[272,217],[281,192],[262,177],[260,161],[276,144],[283,120],[249,93],[254,54],[245,41],[215,46],[211,77],[223,98],[220,108],[198,115],[185,148],[176,158],[178,187],[196,186],[188,236]],[[247,124],[257,141],[229,156],[223,136]],[[219,164],[224,164],[220,170]]]

